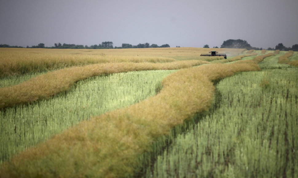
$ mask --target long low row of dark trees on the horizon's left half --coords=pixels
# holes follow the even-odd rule
[[[169,48],[169,44],[163,44],[161,46],[158,46],[157,44],[149,44],[139,43],[138,45],[132,45],[128,43],[123,43],[121,47],[113,47],[112,41],[104,41],[101,44],[94,44],[91,46],[87,45],[77,45],[77,44],[66,44],[66,43],[55,43],[52,47],[45,47],[44,43],[39,43],[36,46],[27,46],[26,48],[57,48],[57,49],[120,49],[120,48]],[[10,46],[8,44],[0,44],[0,48],[23,48],[22,46]]]

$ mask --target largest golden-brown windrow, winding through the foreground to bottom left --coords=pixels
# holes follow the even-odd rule
[[[3,164],[2,177],[131,177],[159,137],[213,101],[212,81],[259,71],[256,63],[210,64],[179,70],[154,97],[88,121],[29,148]],[[148,158],[150,159],[150,158]]]

